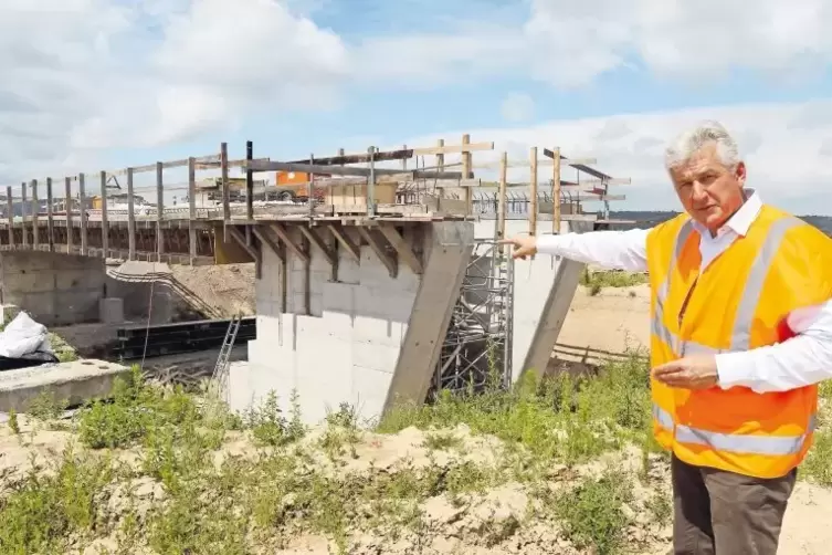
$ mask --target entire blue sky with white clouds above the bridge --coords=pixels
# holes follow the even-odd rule
[[[467,133],[475,164],[558,146],[631,178],[613,208],[676,210],[665,145],[717,119],[763,200],[832,214],[831,27],[823,0],[0,0],[0,186]]]

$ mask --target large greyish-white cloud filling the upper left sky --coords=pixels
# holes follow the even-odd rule
[[[335,33],[274,0],[7,0],[0,180],[77,171],[257,112],[326,109],[348,63]]]

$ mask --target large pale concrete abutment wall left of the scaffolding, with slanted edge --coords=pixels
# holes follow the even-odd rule
[[[292,251],[284,269],[277,255],[264,249],[255,287],[257,338],[249,343],[248,364],[230,367],[231,407],[244,410],[274,390],[288,410],[296,390],[304,420],[317,422],[341,402],[372,419],[397,396],[423,396],[473,240],[471,222],[424,227],[424,235],[410,237],[424,250],[422,275],[400,262],[391,278],[366,244],[360,261],[337,251],[337,281],[315,248],[308,273]],[[359,243],[356,231],[347,229]]]

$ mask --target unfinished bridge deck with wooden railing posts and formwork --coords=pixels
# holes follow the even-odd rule
[[[488,184],[473,179],[475,166],[472,153],[493,148],[493,143],[474,144],[464,135],[460,145],[444,145],[440,142],[435,147],[406,147],[387,153],[369,149],[367,154],[358,155],[344,155],[341,151],[339,156],[330,158],[276,163],[268,158],[255,159],[252,156],[251,143],[246,145],[245,159],[229,160],[228,148],[223,143],[219,155],[99,171],[97,191],[87,190],[85,174],[63,178],[64,195],[55,195],[57,191],[53,190],[51,178],[45,180],[45,196],[44,184],[41,182],[39,187],[38,180],[32,180],[22,185],[21,195],[17,198],[12,196],[12,188],[7,187],[6,207],[0,206],[0,209],[4,208],[0,220],[0,251],[36,250],[201,265],[257,262],[256,243],[270,243],[275,250],[288,248],[299,251],[308,248],[308,244],[301,244],[304,242],[315,243],[326,250],[325,242],[329,241],[329,244],[352,251],[352,241],[360,239],[383,254],[385,251],[400,250],[402,241],[399,233],[404,232],[407,228],[418,227],[419,222],[474,219],[476,209],[473,190]],[[457,154],[461,161],[446,160],[446,154]],[[533,154],[535,156],[529,163],[533,178],[529,184],[531,197],[528,208],[531,214],[537,214],[539,205],[536,148],[533,148]],[[422,161],[421,168],[407,169],[408,159],[415,158],[419,166],[418,157],[428,155],[436,157],[434,167],[424,167]],[[604,179],[610,182],[622,181],[588,168],[586,164],[594,163],[591,159],[567,159],[560,156],[557,149],[544,149],[544,156],[550,159],[541,159],[540,165],[551,163],[551,182],[560,184],[552,192],[559,191],[561,187],[578,185],[560,179],[561,160],[565,166],[571,166],[578,172],[583,171],[592,177],[584,182],[591,185],[591,190],[602,191],[598,200],[605,202],[609,197],[605,192],[609,184],[604,184]],[[394,160],[399,161],[401,169],[382,167]],[[358,167],[357,164],[365,166]],[[507,165],[504,154],[498,182],[499,199],[495,203],[501,207],[501,220],[505,220],[506,217],[506,188],[510,187],[506,181]],[[186,203],[169,207],[165,205],[166,195],[181,190],[182,187],[166,184],[164,171],[178,167],[187,167]],[[229,178],[231,167],[240,167],[244,171],[244,189],[240,187],[239,178]],[[461,171],[449,170],[456,167],[460,167]],[[154,169],[154,186],[135,186],[137,174]],[[212,169],[219,170],[220,176],[198,184],[197,170]],[[310,189],[309,196],[316,200],[313,203],[268,201],[268,192],[264,188],[263,198],[266,201],[255,201],[254,175],[275,171],[278,181],[281,175],[294,176],[299,172],[305,176],[308,181],[299,185]],[[126,192],[122,190],[117,176],[126,176]],[[355,179],[343,179],[349,176],[360,182]],[[118,192],[113,191],[110,180],[115,180]],[[350,190],[349,195],[346,193],[347,189]],[[156,203],[145,202],[136,195],[137,190],[152,190],[156,193]],[[324,192],[317,195],[322,190]],[[449,195],[449,191],[453,192]],[[91,192],[97,195],[91,196]],[[98,199],[95,205],[91,197]],[[108,197],[113,197],[110,200],[126,203],[126,209],[110,206]],[[234,197],[244,197],[243,202],[232,202]],[[206,207],[203,201],[207,198],[213,198],[212,202],[215,206]],[[555,202],[549,199],[548,203],[554,207],[552,218],[560,220],[561,196],[555,195]],[[98,208],[91,208],[93,206]],[[81,210],[81,207],[84,207],[84,210]],[[529,220],[530,232],[534,233],[537,217],[530,216]],[[350,227],[362,231],[356,234],[345,232],[344,228]],[[295,234],[294,231],[288,231],[289,228],[299,228],[297,234],[303,240],[297,244],[293,243],[292,237]],[[504,226],[501,228],[504,229]],[[330,237],[322,241],[318,234],[322,230],[328,231],[337,240],[333,241]],[[403,258],[412,259],[412,255],[403,253]]]

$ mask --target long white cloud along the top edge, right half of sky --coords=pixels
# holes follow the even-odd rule
[[[418,80],[531,76],[564,88],[617,70],[647,71],[692,84],[733,70],[778,83],[812,78],[832,62],[832,4],[759,0],[529,0],[525,23],[460,22],[439,34],[391,35],[366,43],[373,65]],[[704,80],[704,81],[703,81]]]

